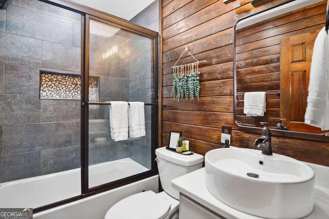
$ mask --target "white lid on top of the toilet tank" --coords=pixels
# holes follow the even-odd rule
[[[204,156],[201,154],[193,153],[191,155],[183,155],[170,150],[166,147],[157,148],[155,154],[169,162],[182,165],[182,166],[194,166],[204,162]]]

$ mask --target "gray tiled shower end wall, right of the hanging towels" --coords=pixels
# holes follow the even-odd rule
[[[131,19],[132,23],[159,31],[159,1],[154,1],[139,14]],[[131,56],[125,60],[129,69],[129,101],[151,103],[154,89],[153,75],[151,72],[151,41],[134,35],[127,42]],[[129,157],[151,169],[151,106],[145,106],[145,131],[146,136],[136,138],[129,145]],[[147,158],[145,158],[147,157]]]

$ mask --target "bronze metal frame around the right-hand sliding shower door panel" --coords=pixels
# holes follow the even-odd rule
[[[143,178],[152,176],[157,174],[156,166],[155,166],[155,149],[157,147],[158,142],[158,90],[154,89],[154,93],[152,96],[152,103],[145,103],[145,106],[152,107],[152,115],[151,115],[151,126],[152,126],[152,136],[151,136],[151,170],[139,173],[137,175],[129,176],[123,178],[121,180],[117,180],[114,182],[109,182],[100,186],[96,186],[94,188],[89,188],[89,136],[88,136],[88,127],[89,127],[89,105],[109,105],[109,103],[104,102],[89,102],[88,99],[88,88],[89,88],[89,32],[90,32],[90,21],[97,21],[107,25],[111,25],[126,31],[130,31],[132,33],[148,37],[152,42],[152,73],[153,73],[153,84],[154,88],[158,87],[158,33],[140,27],[138,25],[132,24],[130,22],[124,21],[121,18],[107,16],[99,18],[97,16],[86,14],[85,21],[82,24],[82,74],[81,74],[81,82],[82,82],[82,94],[81,94],[81,192],[82,194],[90,194],[90,193],[98,193],[102,191],[106,191],[109,189],[117,188],[119,186],[123,186],[126,184],[130,184]]]

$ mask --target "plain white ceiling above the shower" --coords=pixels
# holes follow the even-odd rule
[[[130,21],[154,0],[70,0]]]

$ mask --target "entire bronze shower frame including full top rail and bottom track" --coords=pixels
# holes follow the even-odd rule
[[[81,194],[75,197],[67,198],[56,203],[41,206],[33,209],[33,213],[48,210],[54,207],[58,207],[64,204],[68,204],[74,201],[81,200],[82,198],[92,196],[97,193],[101,193],[113,188],[117,188],[126,184],[130,184],[144,178],[154,176],[157,174],[156,164],[155,164],[155,149],[158,147],[158,116],[159,116],[159,106],[158,106],[158,55],[159,55],[159,36],[158,33],[147,28],[130,23],[122,18],[115,17],[113,15],[106,14],[104,12],[82,6],[80,4],[67,1],[67,0],[38,0],[50,5],[54,5],[60,8],[64,8],[70,11],[81,14]],[[161,3],[159,8],[161,8]],[[146,36],[152,39],[152,70],[153,70],[153,83],[154,83],[154,93],[152,103],[145,104],[152,106],[152,136],[151,136],[151,170],[134,175],[131,177],[124,178],[113,183],[104,184],[97,186],[95,188],[88,188],[88,106],[95,103],[88,103],[88,80],[85,78],[89,77],[89,19],[95,19],[96,21],[101,21],[115,27],[119,27],[133,33]],[[101,105],[102,103],[97,103]]]

